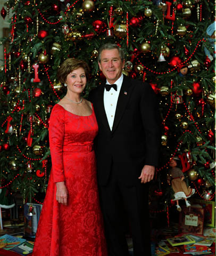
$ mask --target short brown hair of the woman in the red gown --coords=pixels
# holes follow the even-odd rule
[[[65,60],[57,71],[57,78],[60,83],[64,84],[67,76],[75,69],[83,68],[85,70],[86,78],[89,78],[89,67],[84,60],[69,58]]]

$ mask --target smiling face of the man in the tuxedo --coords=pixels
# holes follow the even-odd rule
[[[121,61],[117,49],[103,50],[101,53],[101,62],[98,62],[98,65],[107,81],[110,84],[114,84],[121,76],[124,62],[124,60],[123,62]]]

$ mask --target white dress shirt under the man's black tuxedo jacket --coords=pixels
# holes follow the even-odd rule
[[[105,108],[106,117],[107,117],[111,131],[112,131],[112,126],[113,126],[114,117],[115,117],[115,109],[117,108],[117,101],[119,98],[119,92],[121,89],[122,82],[123,82],[123,74],[121,74],[119,79],[114,83],[117,85],[117,91],[115,91],[113,87],[110,89],[110,91],[106,91],[106,89],[104,88],[104,108]],[[107,81],[106,83],[110,84]]]

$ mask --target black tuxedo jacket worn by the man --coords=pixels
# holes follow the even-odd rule
[[[161,134],[156,95],[148,83],[124,76],[112,131],[103,98],[103,85],[89,94],[99,128],[95,138],[98,183],[106,185],[113,163],[120,166],[118,175],[122,182],[134,185],[140,182],[143,166],[156,166],[159,157]]]

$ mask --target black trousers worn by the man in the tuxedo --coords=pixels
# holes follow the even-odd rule
[[[106,186],[99,186],[108,254],[128,256],[125,237],[125,220],[128,220],[134,256],[151,256],[148,184],[141,184],[138,180],[135,186],[124,185],[118,174],[119,168],[120,163],[113,163],[109,182]]]

